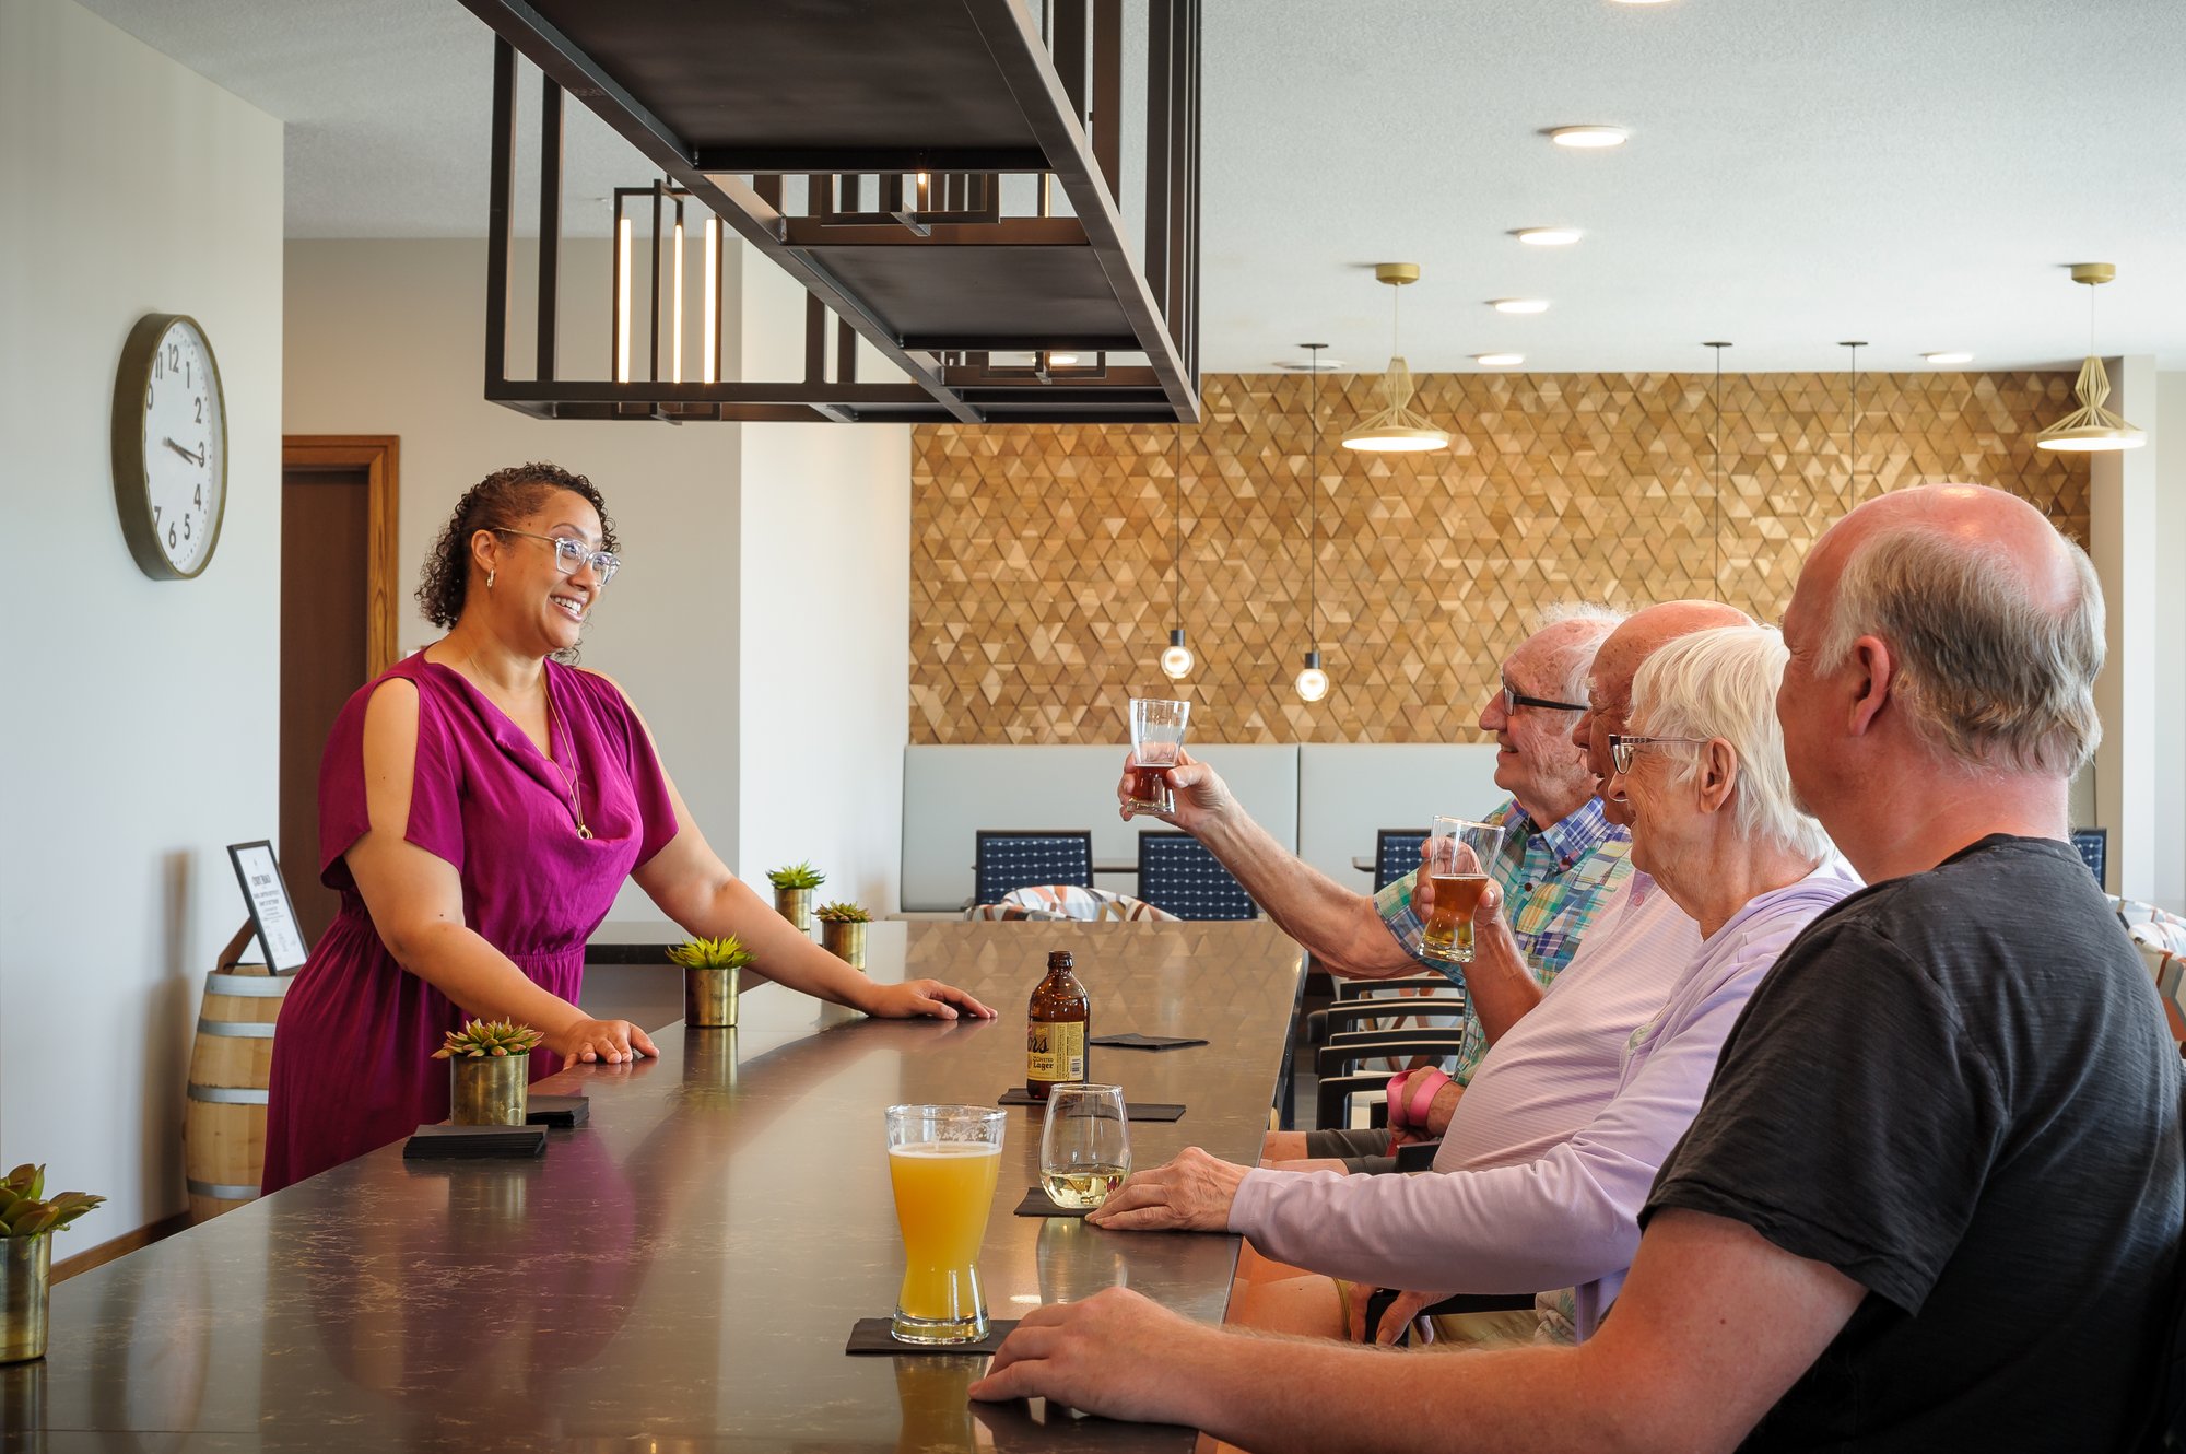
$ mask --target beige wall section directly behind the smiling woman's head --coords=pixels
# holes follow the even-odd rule
[[[606,243],[564,245],[562,372],[599,376],[606,313],[577,306]],[[531,297],[518,247],[514,293]],[[516,308],[529,317],[529,302]],[[586,632],[584,665],[645,713],[691,816],[737,866],[739,424],[533,420],[485,402],[485,243],[289,243],[286,415],[293,435],[402,437],[404,649],[439,636],[409,595],[455,501],[496,468],[551,459],[608,501],[625,568]],[[529,367],[529,330],[512,372]],[[625,888],[616,916],[654,916]]]

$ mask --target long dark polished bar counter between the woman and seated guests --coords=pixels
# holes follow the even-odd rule
[[[739,1030],[669,1025],[658,1060],[575,1067],[590,1126],[536,1163],[380,1148],[52,1290],[44,1362],[0,1369],[7,1450],[1189,1450],[1187,1430],[973,1408],[984,1358],[850,1358],[901,1277],[881,1109],[992,1104],[1023,1080],[1025,997],[1069,949],[1095,1080],[1185,1102],[1137,1165],[1253,1161],[1301,955],[1268,923],[877,923],[879,980],[933,975],[1001,1019],[868,1021],[778,986]],[[667,971],[673,973],[673,971]],[[1218,1321],[1237,1240],[1016,1218],[1041,1119],[1014,1111],[979,1259],[988,1312],[1128,1283]]]

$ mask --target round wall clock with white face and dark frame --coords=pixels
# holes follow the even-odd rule
[[[114,505],[138,568],[190,579],[227,509],[227,400],[197,319],[146,313],[114,376]]]

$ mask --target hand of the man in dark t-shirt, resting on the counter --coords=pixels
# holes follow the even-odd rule
[[[968,1393],[986,1402],[1045,1397],[1108,1419],[1172,1423],[1183,1415],[1191,1367],[1183,1353],[1220,1336],[1128,1288],[1108,1288],[1082,1303],[1027,1312]]]

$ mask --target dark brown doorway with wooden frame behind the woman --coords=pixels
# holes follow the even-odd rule
[[[350,695],[396,660],[396,435],[284,435],[280,472],[280,861],[304,942],[319,883],[319,757]]]

